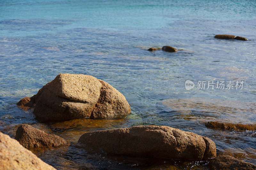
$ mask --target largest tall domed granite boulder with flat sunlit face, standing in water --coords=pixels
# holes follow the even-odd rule
[[[131,112],[125,97],[114,87],[83,74],[59,74],[32,98],[40,121],[109,118]]]

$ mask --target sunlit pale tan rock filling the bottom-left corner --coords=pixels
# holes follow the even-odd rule
[[[51,169],[52,166],[37,158],[31,151],[22,147],[18,141],[0,132],[0,169]]]

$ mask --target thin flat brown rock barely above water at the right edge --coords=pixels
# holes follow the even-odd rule
[[[233,123],[221,123],[221,122],[207,122],[205,123],[207,128],[211,129],[227,129],[227,130],[256,130],[256,124],[233,124]]]

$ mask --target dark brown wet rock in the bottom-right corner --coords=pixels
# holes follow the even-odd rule
[[[228,155],[222,155],[211,159],[209,168],[211,170],[256,170],[255,165]]]

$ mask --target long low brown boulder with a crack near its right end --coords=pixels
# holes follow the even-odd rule
[[[162,159],[216,157],[216,146],[211,139],[168,126],[134,126],[88,132],[79,138],[77,145],[109,154]]]

